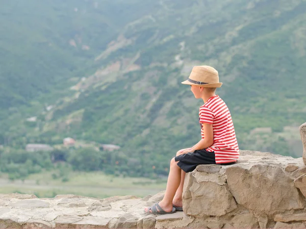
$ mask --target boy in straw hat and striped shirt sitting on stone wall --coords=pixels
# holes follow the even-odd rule
[[[194,66],[188,80],[195,98],[203,99],[199,108],[201,140],[191,148],[177,151],[170,162],[165,196],[159,203],[145,208],[146,214],[169,214],[183,211],[182,193],[186,172],[199,164],[234,164],[239,148],[231,113],[224,101],[215,94],[221,87],[218,71],[210,66]]]

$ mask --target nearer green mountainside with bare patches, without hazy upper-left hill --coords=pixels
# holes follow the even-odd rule
[[[95,9],[95,1],[79,2]],[[230,108],[242,149],[301,154],[301,147],[291,148],[306,112],[304,1],[161,1],[151,9],[145,5],[149,1],[135,0],[131,8],[119,3],[106,1],[104,6],[111,10],[117,4],[115,11],[124,9],[129,20],[119,17],[115,32],[103,41],[93,36],[90,55],[80,54],[75,62],[86,60],[83,67],[38,96],[32,107],[2,112],[6,118],[1,124],[12,123],[5,135],[15,145],[52,143],[68,135],[114,143],[130,157],[163,161],[160,171],[173,151],[190,147],[200,136],[201,102],[181,82],[192,66],[206,64],[219,71],[224,84],[217,93]],[[114,18],[98,12],[95,17]],[[86,18],[98,27],[93,16]],[[75,37],[65,38],[66,45],[71,39],[78,43]],[[45,104],[53,108],[46,110]],[[39,119],[31,126],[21,113]]]

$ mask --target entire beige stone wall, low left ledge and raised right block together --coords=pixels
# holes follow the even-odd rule
[[[241,151],[230,166],[186,175],[184,212],[144,215],[163,197],[0,195],[0,228],[306,228],[306,166],[268,152]]]

